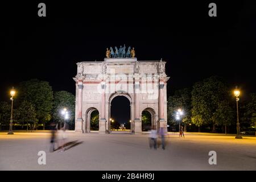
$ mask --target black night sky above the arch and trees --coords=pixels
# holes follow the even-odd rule
[[[0,100],[11,86],[39,78],[75,94],[77,61],[101,61],[106,47],[135,47],[138,60],[167,61],[168,94],[218,75],[256,92],[256,6],[251,2],[38,2],[1,5]],[[87,2],[87,1],[86,1]],[[122,3],[121,3],[122,2]]]

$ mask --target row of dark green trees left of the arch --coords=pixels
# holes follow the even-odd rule
[[[53,92],[47,81],[32,79],[23,81],[15,89],[13,105],[14,129],[45,129],[50,122],[63,122],[61,110],[67,107],[70,127],[75,125],[75,96],[66,91]],[[1,127],[8,129],[10,123],[10,102],[0,102]]]

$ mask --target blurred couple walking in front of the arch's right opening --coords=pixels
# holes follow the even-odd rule
[[[166,127],[160,127],[159,133],[156,131],[156,129],[153,127],[152,130],[150,131],[150,136],[149,136],[149,142],[150,142],[150,148],[156,147],[157,139],[158,136],[161,138],[161,143],[162,143],[162,148],[163,150],[166,149],[166,143],[165,143],[165,135],[167,135],[167,129]]]

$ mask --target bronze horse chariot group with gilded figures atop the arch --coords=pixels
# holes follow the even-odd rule
[[[134,47],[133,49],[131,49],[131,47],[129,46],[127,48],[127,51],[125,50],[125,44],[122,46],[120,46],[119,48],[117,48],[115,46],[115,51],[112,47],[106,48],[106,57],[107,58],[129,58],[129,57],[135,57],[135,50]]]

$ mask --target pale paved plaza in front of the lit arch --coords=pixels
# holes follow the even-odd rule
[[[148,146],[148,134],[68,133],[77,145],[49,152],[50,133],[0,133],[1,170],[255,170],[256,138],[170,133],[166,150]],[[46,151],[46,165],[38,152]],[[209,151],[217,164],[210,165]]]

